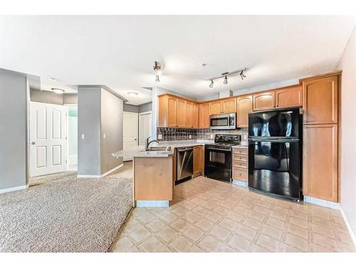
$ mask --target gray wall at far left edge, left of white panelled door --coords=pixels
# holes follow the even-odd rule
[[[0,189],[27,183],[26,80],[0,68]]]

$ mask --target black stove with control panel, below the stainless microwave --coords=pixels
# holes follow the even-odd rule
[[[214,144],[205,145],[204,175],[231,182],[232,147],[240,142],[241,135],[215,135]]]

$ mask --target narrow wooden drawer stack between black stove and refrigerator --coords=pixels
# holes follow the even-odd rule
[[[232,149],[232,179],[247,182],[248,148]]]

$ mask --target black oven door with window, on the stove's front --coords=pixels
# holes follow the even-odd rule
[[[204,174],[231,182],[231,148],[205,147]]]

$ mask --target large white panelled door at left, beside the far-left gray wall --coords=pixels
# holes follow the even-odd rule
[[[30,102],[30,176],[66,171],[67,107]]]

